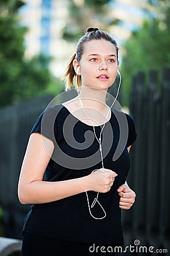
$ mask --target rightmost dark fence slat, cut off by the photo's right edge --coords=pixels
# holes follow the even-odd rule
[[[163,70],[162,101],[160,115],[160,239],[170,246],[169,204],[169,143],[170,143],[170,69]]]

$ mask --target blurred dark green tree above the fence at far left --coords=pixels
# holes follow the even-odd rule
[[[17,11],[22,1],[0,3],[0,106],[15,103],[49,91],[54,78],[49,71],[49,58],[39,55],[25,59],[24,35]],[[57,89],[57,86],[56,86]]]

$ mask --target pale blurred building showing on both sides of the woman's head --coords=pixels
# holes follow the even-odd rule
[[[20,20],[28,27],[25,36],[25,56],[32,57],[40,52],[52,56],[50,69],[55,76],[61,77],[67,61],[75,51],[75,43],[62,38],[62,28],[69,20],[67,6],[69,0],[24,0],[20,9]],[[74,0],[79,5],[83,0]],[[131,30],[141,26],[145,0],[115,0],[108,5],[109,13],[105,19],[119,19],[120,24],[110,28],[119,45],[129,38]]]

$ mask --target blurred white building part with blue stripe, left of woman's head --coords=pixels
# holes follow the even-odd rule
[[[74,52],[74,44],[62,39],[62,28],[67,22],[68,0],[24,0],[19,10],[22,26],[28,27],[25,36],[25,56],[32,57],[42,52],[52,56],[50,69],[61,77],[69,56]]]

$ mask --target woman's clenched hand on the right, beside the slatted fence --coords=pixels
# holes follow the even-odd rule
[[[135,202],[136,194],[131,190],[128,185],[121,185],[117,189],[118,195],[120,196],[119,207],[121,209],[129,210]]]

